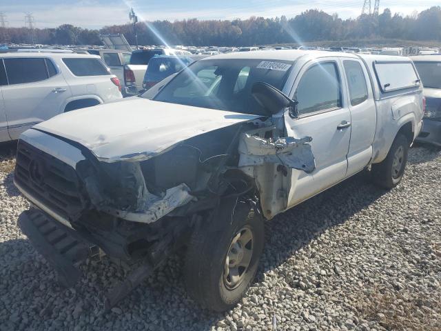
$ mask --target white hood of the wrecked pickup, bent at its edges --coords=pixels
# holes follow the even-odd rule
[[[142,161],[198,134],[258,117],[131,98],[60,114],[33,128],[76,141],[100,161]]]

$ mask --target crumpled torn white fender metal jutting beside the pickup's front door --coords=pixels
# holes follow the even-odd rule
[[[311,141],[311,137],[282,137],[272,141],[245,133],[238,148],[239,167],[280,163],[309,174],[316,169],[316,161],[309,144]]]

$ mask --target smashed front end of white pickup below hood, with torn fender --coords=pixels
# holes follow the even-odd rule
[[[252,200],[267,219],[285,210],[289,171],[315,168],[310,141],[286,137],[271,118],[254,119],[154,155],[105,162],[79,143],[29,130],[19,141],[14,181],[36,208],[23,214],[21,228],[65,285],[79,278],[71,265],[90,256],[138,264],[107,296],[110,308],[185,245],[222,199]],[[76,259],[66,263],[74,247]]]

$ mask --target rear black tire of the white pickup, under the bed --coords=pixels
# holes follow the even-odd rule
[[[396,185],[400,183],[404,175],[404,170],[406,169],[409,147],[409,139],[407,139],[404,134],[397,134],[397,137],[395,137],[395,140],[392,143],[391,149],[387,153],[386,159],[380,163],[372,165],[371,174],[373,182],[376,183],[376,185],[389,190],[395,188]],[[397,156],[396,153],[398,153],[398,155],[402,154],[401,158],[398,157],[398,159],[401,159],[401,162],[398,163],[398,165],[397,163],[394,163]]]

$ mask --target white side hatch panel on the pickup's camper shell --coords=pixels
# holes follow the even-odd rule
[[[382,92],[420,86],[420,79],[411,62],[376,61],[373,68]]]

